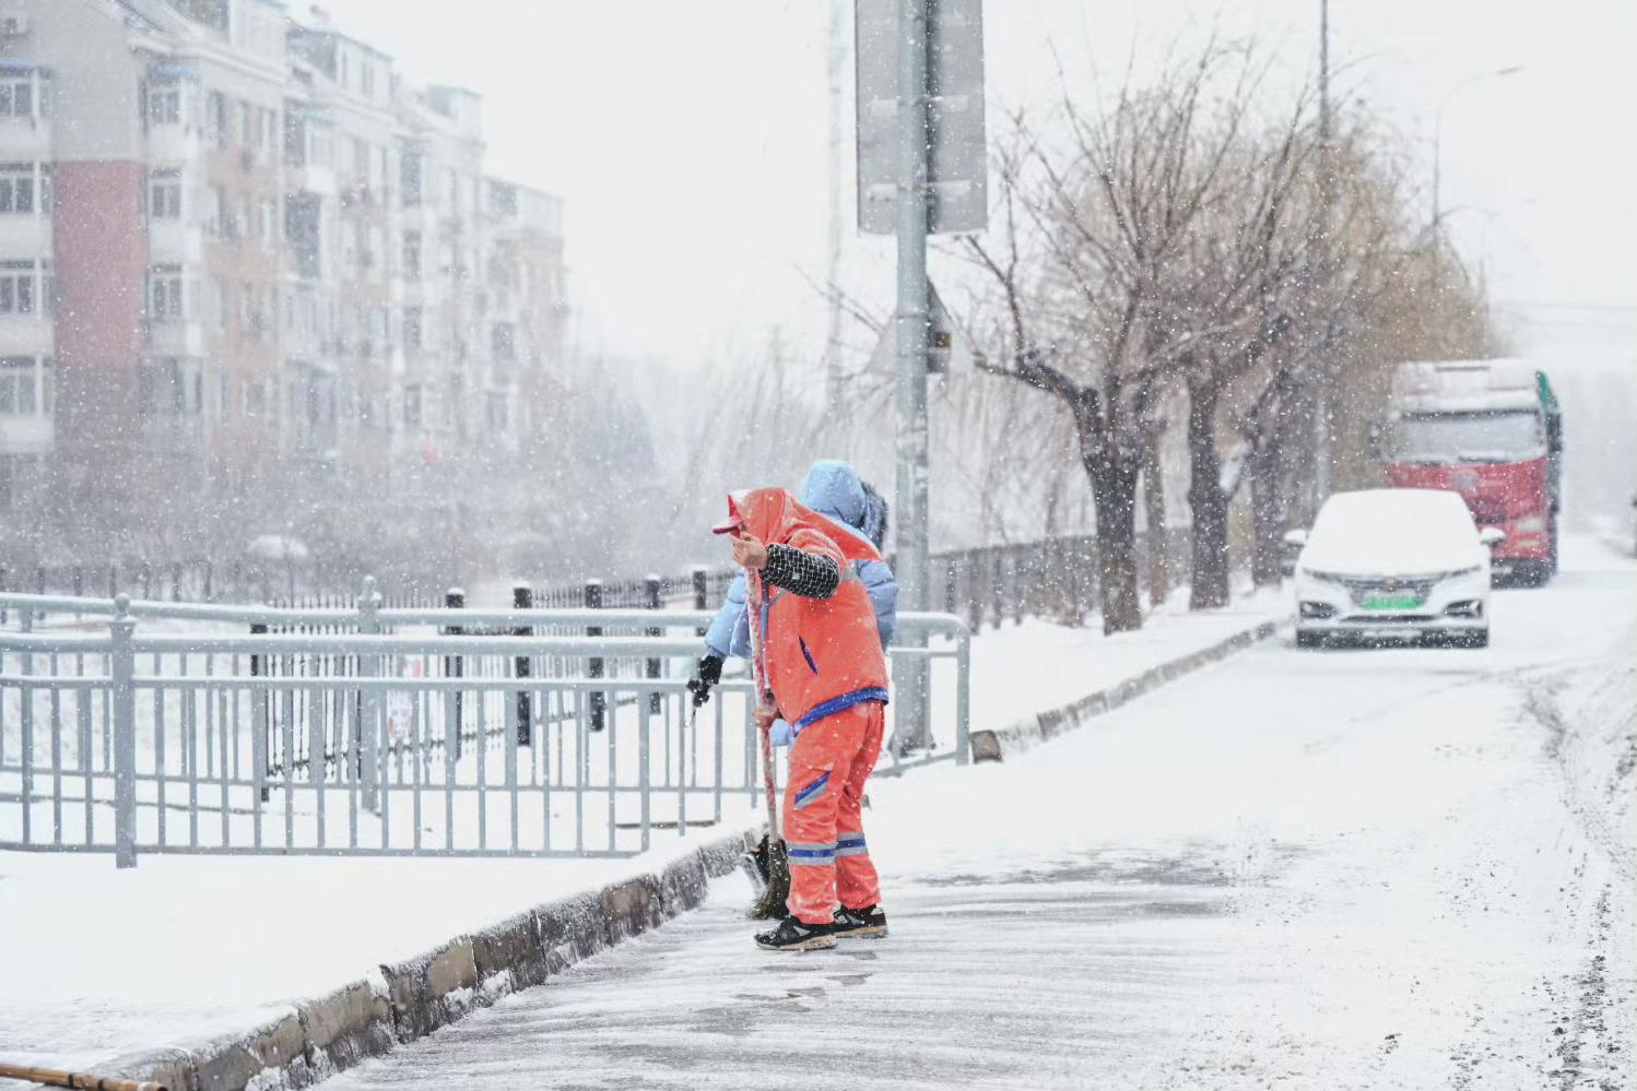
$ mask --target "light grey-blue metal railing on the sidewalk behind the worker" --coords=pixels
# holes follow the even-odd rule
[[[689,715],[707,612],[0,605],[0,849],[632,855],[761,793],[748,680]],[[881,772],[966,762],[966,625],[899,630],[931,638],[892,654],[931,661],[941,743]]]

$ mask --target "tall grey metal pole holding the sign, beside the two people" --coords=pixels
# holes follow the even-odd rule
[[[899,0],[899,605],[927,608],[927,0]],[[925,643],[915,635],[915,646]],[[927,662],[894,664],[894,748],[925,748]]]

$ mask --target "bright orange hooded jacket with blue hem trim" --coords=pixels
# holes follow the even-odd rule
[[[761,574],[751,572],[761,684],[791,730],[800,733],[815,720],[859,702],[886,702],[887,659],[876,631],[876,610],[851,564],[879,561],[876,548],[804,507],[784,489],[737,492],[728,497],[728,517],[768,545],[828,556],[841,571],[841,582],[828,599],[764,587]]]

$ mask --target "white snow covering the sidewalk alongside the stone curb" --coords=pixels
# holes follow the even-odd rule
[[[974,726],[1003,726],[1287,610],[1278,595],[1200,615],[1172,602],[1118,638],[1043,622],[985,630],[972,653]],[[961,783],[954,772],[910,780]],[[688,844],[758,815],[732,797],[724,824]],[[82,1066],[247,1029],[288,999],[684,849],[663,831],[655,844],[629,860],[144,855],[129,872],[108,855],[0,852],[0,1057]]]

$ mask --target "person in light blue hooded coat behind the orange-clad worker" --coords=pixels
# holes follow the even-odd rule
[[[887,502],[869,487],[858,471],[835,458],[820,458],[807,471],[797,499],[845,528],[864,538],[877,550],[887,540]],[[855,561],[853,571],[864,581],[869,604],[876,608],[876,631],[881,646],[892,643],[897,630],[899,584],[886,561]],[[750,618],[745,608],[745,574],[740,572],[727,589],[727,602],[717,610],[706,631],[706,654],[699,658],[699,671],[688,682],[694,707],[710,700],[710,687],[722,680],[722,664],[728,656],[750,659]]]

